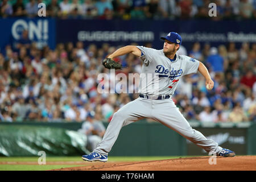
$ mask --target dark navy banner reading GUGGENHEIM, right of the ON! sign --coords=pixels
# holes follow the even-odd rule
[[[72,27],[72,28],[67,28]],[[250,28],[248,28],[250,27]],[[195,42],[210,43],[211,46],[228,42],[256,42],[256,21],[237,22],[208,20],[57,20],[56,42],[84,42],[89,44],[109,43],[123,46],[131,43],[152,43],[162,48],[160,36],[168,32],[179,32],[183,46],[191,48]]]

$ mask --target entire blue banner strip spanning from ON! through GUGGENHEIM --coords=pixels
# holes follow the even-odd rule
[[[195,42],[209,43],[211,46],[235,42],[256,42],[256,21],[208,21],[208,20],[96,20],[96,19],[51,19],[51,18],[6,18],[0,19],[0,48],[7,44],[15,48],[23,30],[28,30],[28,38],[38,47],[56,43],[77,41],[85,46],[109,43],[112,46],[126,46],[137,43],[144,46],[163,47],[160,36],[170,31],[179,32],[182,45],[190,49]],[[248,28],[250,27],[250,28]]]

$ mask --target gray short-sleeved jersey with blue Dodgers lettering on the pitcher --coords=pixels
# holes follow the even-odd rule
[[[196,73],[199,67],[198,60],[185,55],[176,54],[176,59],[171,61],[164,55],[163,49],[137,47],[143,53],[139,81],[140,94],[172,96],[180,78],[190,73]]]

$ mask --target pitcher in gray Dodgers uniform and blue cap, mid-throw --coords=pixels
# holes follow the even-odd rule
[[[92,153],[83,155],[83,160],[108,161],[108,153],[121,128],[141,118],[151,118],[162,123],[209,154],[225,157],[235,155],[235,152],[218,146],[218,143],[212,139],[207,139],[199,131],[192,129],[171,98],[180,78],[197,71],[205,77],[207,88],[212,89],[214,82],[207,68],[198,60],[176,54],[182,41],[181,36],[176,32],[170,32],[160,39],[164,40],[163,49],[125,46],[117,49],[102,61],[106,68],[121,69],[121,64],[115,63],[114,57],[127,53],[140,57],[143,65],[139,82],[139,97],[114,113],[102,141]]]

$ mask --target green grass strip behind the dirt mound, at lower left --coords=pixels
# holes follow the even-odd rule
[[[185,156],[132,156],[132,157],[109,157],[109,162],[134,162],[141,160],[163,160],[184,158]],[[89,166],[91,162],[84,162],[81,156],[57,156],[46,157],[46,164],[38,164],[39,157],[0,157],[0,171],[45,171],[76,166]],[[56,163],[56,164],[55,164]],[[63,164],[58,164],[63,163]]]

